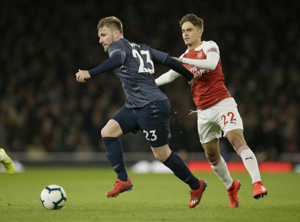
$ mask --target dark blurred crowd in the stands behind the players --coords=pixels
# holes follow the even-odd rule
[[[298,1],[24,0],[4,1],[0,11],[0,147],[7,151],[105,151],[100,132],[124,105],[121,82],[113,72],[85,84],[75,77],[108,59],[99,20],[116,16],[126,39],[179,57],[187,47],[178,22],[188,13],[204,20],[202,40],[219,46],[249,147],[266,160],[300,151]],[[154,77],[168,70],[155,66]],[[160,88],[172,107],[171,149],[202,152],[187,81]],[[120,139],[124,151],[151,150],[141,132]],[[220,141],[222,152],[233,152]]]

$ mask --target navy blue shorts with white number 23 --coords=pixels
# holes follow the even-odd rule
[[[116,120],[123,134],[141,130],[152,147],[169,143],[172,134],[169,127],[171,106],[169,100],[150,102],[137,108],[123,106],[111,119]]]

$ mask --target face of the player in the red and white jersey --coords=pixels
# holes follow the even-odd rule
[[[181,31],[185,45],[192,46],[201,42],[202,30],[197,29],[191,22],[184,22]]]

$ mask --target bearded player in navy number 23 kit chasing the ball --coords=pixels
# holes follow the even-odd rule
[[[106,193],[106,196],[116,197],[132,189],[133,185],[125,169],[119,136],[128,132],[135,134],[141,130],[155,158],[189,185],[191,188],[189,207],[196,206],[207,184],[197,179],[183,160],[169,148],[168,144],[172,137],[169,129],[170,103],[155,83],[154,64],[172,68],[183,75],[191,86],[201,75],[193,75],[166,53],[124,39],[122,22],[116,17],[103,18],[98,24],[98,34],[99,42],[110,58],[89,71],[79,69],[76,79],[80,83],[85,83],[85,79],[113,70],[120,78],[127,98],[125,105],[101,130],[108,161],[118,175],[113,190]]]

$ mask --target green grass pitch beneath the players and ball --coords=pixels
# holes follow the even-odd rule
[[[134,174],[133,190],[116,198],[105,193],[116,175],[107,168],[26,168],[23,173],[0,174],[0,221],[300,221],[300,175],[263,173],[268,196],[255,200],[251,178],[232,173],[241,181],[240,207],[231,209],[223,183],[214,173],[195,173],[208,187],[202,201],[190,209],[189,187],[173,174]],[[40,193],[50,184],[62,186],[67,203],[46,210]]]

